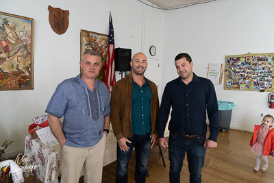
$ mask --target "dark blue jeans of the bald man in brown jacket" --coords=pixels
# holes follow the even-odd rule
[[[136,154],[136,169],[135,182],[145,182],[147,175],[147,161],[150,154],[150,135],[136,135],[132,138],[127,138],[132,143],[127,143],[128,151],[121,151],[117,143],[117,169],[116,169],[116,183],[127,182],[127,166],[129,164],[132,150],[135,148]]]

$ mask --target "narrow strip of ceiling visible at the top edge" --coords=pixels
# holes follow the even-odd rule
[[[192,5],[195,3],[203,3],[209,0],[147,0],[155,5],[158,5],[160,8],[169,9],[169,8],[178,8],[186,5]]]

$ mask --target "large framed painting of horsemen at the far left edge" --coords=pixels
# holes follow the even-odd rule
[[[0,12],[0,90],[34,88],[34,19]]]

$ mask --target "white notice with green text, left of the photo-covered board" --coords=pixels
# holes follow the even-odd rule
[[[208,79],[213,84],[222,84],[223,64],[208,64]]]

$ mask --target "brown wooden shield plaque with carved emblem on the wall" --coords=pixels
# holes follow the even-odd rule
[[[64,34],[69,27],[69,10],[52,8],[50,5],[48,9],[51,28],[59,35]]]

